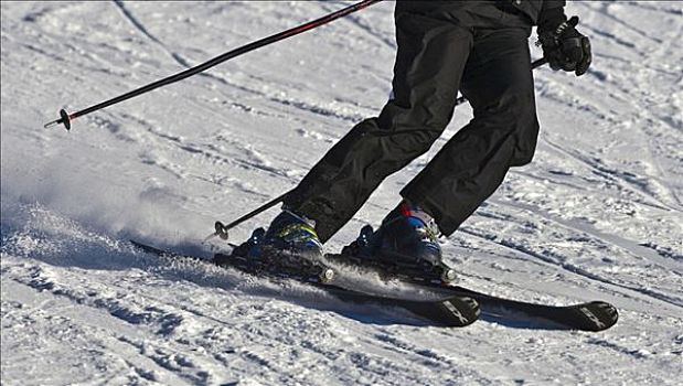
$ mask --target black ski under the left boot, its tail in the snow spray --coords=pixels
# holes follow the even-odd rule
[[[340,287],[328,278],[320,275],[292,275],[288,272],[276,272],[254,267],[245,256],[237,254],[216,254],[213,259],[175,253],[172,250],[157,248],[140,242],[130,240],[131,245],[146,254],[156,255],[162,258],[174,260],[186,260],[199,264],[218,266],[223,268],[232,267],[239,271],[269,278],[285,278],[307,282],[313,287],[321,288],[328,293],[342,301],[355,303],[376,303],[387,307],[406,309],[416,315],[429,320],[438,325],[445,326],[466,326],[473,323],[480,314],[479,304],[469,296],[445,294],[438,300],[410,300],[394,298],[378,293],[366,293],[350,288]]]

